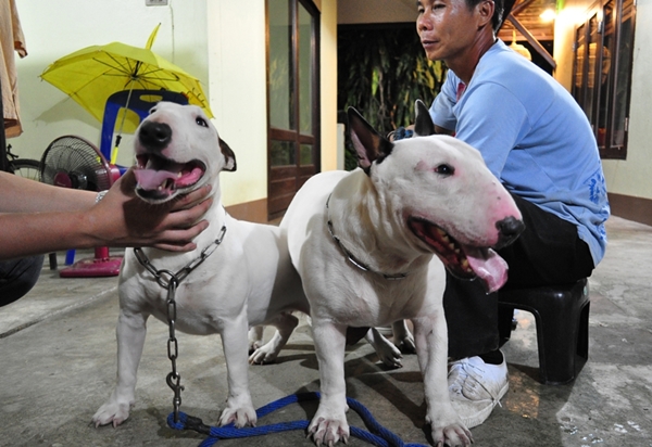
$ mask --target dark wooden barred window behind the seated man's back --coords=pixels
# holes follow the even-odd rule
[[[635,12],[635,0],[602,1],[575,36],[573,95],[602,158],[627,157]]]

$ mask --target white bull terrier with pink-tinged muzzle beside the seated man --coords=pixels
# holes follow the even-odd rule
[[[434,133],[425,105],[417,101],[416,108],[415,132]],[[309,434],[317,445],[349,438],[347,328],[410,319],[432,439],[467,446],[471,432],[447,386],[444,265],[499,289],[506,263],[490,247],[521,233],[521,213],[466,143],[446,136],[391,143],[353,110],[349,126],[360,167],[312,177],[280,225],[311,305],[319,365],[322,397]]]

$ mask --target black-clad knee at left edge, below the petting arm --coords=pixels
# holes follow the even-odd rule
[[[0,261],[0,306],[15,302],[32,290],[43,267],[43,257]]]

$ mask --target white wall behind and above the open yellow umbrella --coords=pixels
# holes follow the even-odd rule
[[[18,14],[28,55],[16,59],[24,132],[10,139],[13,152],[39,159],[57,137],[72,133],[97,143],[101,125],[75,101],[39,78],[57,59],[91,44],[122,41],[145,47],[156,24],[161,28],[152,50],[208,80],[205,64],[205,0],[171,0],[168,7],[145,1],[21,0]],[[129,138],[121,144],[118,162],[130,164]]]

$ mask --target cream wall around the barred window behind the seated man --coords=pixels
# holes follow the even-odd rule
[[[573,41],[578,24],[587,17],[592,0],[568,0],[555,23],[554,54],[557,62],[555,78],[570,90],[573,76]],[[602,162],[610,193],[652,199],[652,4],[639,0],[636,15],[631,102],[629,108],[629,140],[627,159]]]

